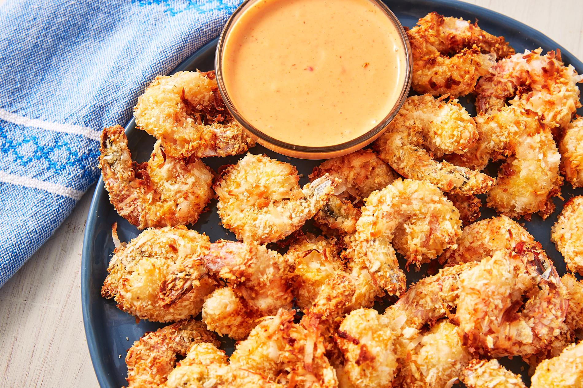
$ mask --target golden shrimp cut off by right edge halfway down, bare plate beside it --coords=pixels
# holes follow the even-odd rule
[[[583,275],[583,195],[567,201],[551,228],[550,239],[563,255],[567,268]]]

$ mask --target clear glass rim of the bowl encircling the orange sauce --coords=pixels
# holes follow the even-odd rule
[[[405,99],[409,94],[409,90],[413,79],[413,57],[411,47],[409,44],[409,38],[401,22],[399,22],[399,19],[395,16],[392,10],[389,9],[388,6],[384,2],[382,2],[382,0],[366,0],[380,8],[385,13],[385,15],[388,16],[392,24],[395,26],[395,29],[399,37],[401,38],[401,43],[405,50],[405,74],[404,74],[405,77],[403,87],[401,88],[401,92],[399,93],[399,97],[396,100],[395,105],[392,107],[391,111],[388,112],[387,116],[385,116],[385,118],[381,120],[380,123],[378,123],[372,129],[368,130],[366,133],[360,135],[359,137],[353,138],[352,140],[340,144],[327,145],[321,147],[308,147],[306,145],[286,143],[285,141],[281,141],[274,137],[268,136],[261,130],[257,129],[250,122],[248,122],[243,117],[243,115],[240,114],[240,112],[237,111],[233,104],[233,101],[226,92],[226,86],[224,84],[222,72],[224,44],[226,42],[227,36],[229,35],[231,28],[237,22],[238,17],[242,15],[243,12],[245,12],[245,10],[251,8],[251,6],[253,6],[255,3],[259,1],[262,0],[245,0],[243,3],[241,3],[240,6],[238,6],[238,8],[231,15],[231,17],[229,17],[229,20],[227,20],[227,23],[223,27],[216,47],[215,77],[217,81],[217,86],[219,87],[219,93],[223,98],[223,102],[227,110],[233,116],[233,118],[259,144],[263,145],[266,148],[271,149],[272,151],[279,152],[280,154],[286,156],[293,156],[294,158],[326,159],[346,155],[349,154],[350,152],[356,151],[356,149],[366,147],[366,145],[372,143],[379,136],[381,136],[381,134],[387,128],[388,124],[392,121],[392,119],[395,118],[397,113],[401,110],[401,107],[403,106],[403,103],[405,102]]]

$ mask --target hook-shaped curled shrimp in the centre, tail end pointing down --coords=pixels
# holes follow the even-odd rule
[[[370,194],[362,212],[347,254],[364,263],[381,288],[392,293],[401,290],[397,280],[403,276],[393,246],[408,265],[419,266],[455,244],[461,234],[458,209],[437,186],[423,181],[395,180]]]

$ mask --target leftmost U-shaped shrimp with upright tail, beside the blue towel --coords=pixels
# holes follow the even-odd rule
[[[213,197],[213,173],[201,161],[179,162],[158,141],[150,160],[132,162],[121,126],[101,133],[99,163],[111,204],[129,223],[144,229],[195,223]]]

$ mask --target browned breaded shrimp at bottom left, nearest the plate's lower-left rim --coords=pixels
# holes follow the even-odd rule
[[[164,386],[173,370],[177,355],[184,357],[193,344],[219,346],[216,336],[199,321],[174,323],[156,332],[148,332],[128,349],[128,388],[158,388]]]

